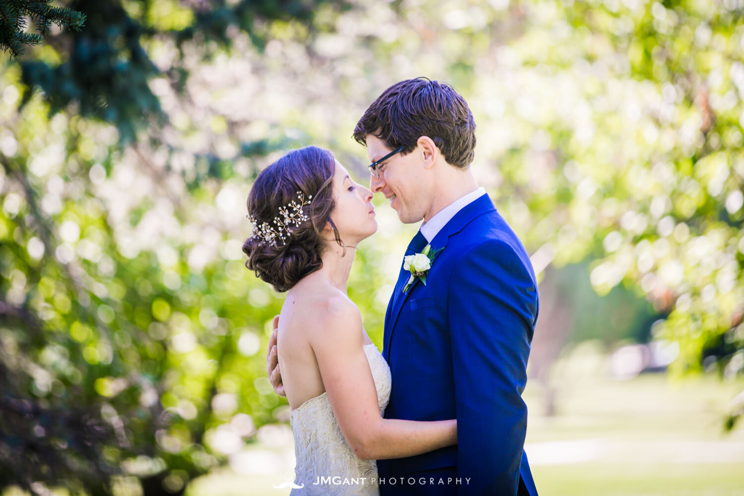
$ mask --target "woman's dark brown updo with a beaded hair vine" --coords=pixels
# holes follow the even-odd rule
[[[330,151],[306,146],[292,150],[262,170],[248,194],[248,214],[258,225],[263,222],[274,225],[274,219],[280,216],[279,209],[298,201],[298,191],[306,201],[312,196],[310,204],[302,207],[307,219],[292,226],[285,244],[278,239],[272,245],[258,236],[243,243],[243,252],[248,255],[246,267],[278,292],[288,291],[307,274],[321,268],[321,256],[327,249],[321,233],[327,222],[333,227],[336,242],[343,246],[330,219],[336,204],[335,172],[336,159]]]

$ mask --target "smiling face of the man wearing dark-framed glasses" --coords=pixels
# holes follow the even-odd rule
[[[367,135],[367,155],[371,162],[388,155],[392,150],[373,135]],[[406,155],[396,153],[377,168],[379,178],[370,175],[370,189],[382,193],[398,214],[400,222],[411,224],[423,219],[429,191],[426,170],[418,147]]]

